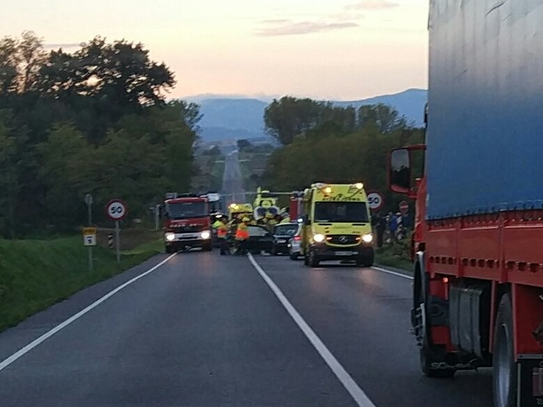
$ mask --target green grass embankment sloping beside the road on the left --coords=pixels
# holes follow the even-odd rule
[[[97,246],[89,272],[80,236],[0,240],[0,331],[161,251],[162,242],[155,240],[123,252],[117,264],[113,251]]]

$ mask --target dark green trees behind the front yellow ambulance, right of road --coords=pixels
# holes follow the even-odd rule
[[[303,190],[316,182],[365,184],[385,195],[386,209],[404,199],[388,191],[393,148],[424,141],[424,131],[388,105],[336,107],[286,96],[264,112],[266,131],[281,147],[270,156],[263,180],[272,190]]]

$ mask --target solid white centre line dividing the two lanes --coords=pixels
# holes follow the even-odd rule
[[[271,279],[260,267],[259,263],[254,260],[252,254],[249,254],[249,260],[251,261],[254,268],[257,269],[257,271],[259,272],[260,277],[262,277],[266,284],[268,284],[277,299],[280,300],[281,304],[286,309],[286,312],[288,312],[294,322],[296,322],[298,328],[302,330],[305,337],[309,339],[316,351],[319,352],[323,360],[326,362],[326,364],[328,364],[328,367],[330,367],[338,380],[342,383],[342,385],[349,392],[349,394],[351,394],[351,397],[353,397],[356,404],[358,404],[358,406],[360,407],[376,407],[375,404],[373,404],[372,401],[369,399],[369,397],[367,397],[366,393],[363,392],[360,386],[358,386],[358,384],[353,380],[351,375],[347,373],[344,367],[337,361],[335,356],[332,355],[332,352],[328,350],[321,338],[319,338],[314,330],[312,330],[307,322],[305,322],[304,318],[300,315],[296,308],[293,307],[291,302],[286,298],[286,296],[283,294],[277,284],[273,282],[273,279]]]

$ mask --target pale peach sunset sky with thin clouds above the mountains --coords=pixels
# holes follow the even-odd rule
[[[427,87],[428,0],[1,0],[0,36],[142,42],[171,97],[357,100]]]

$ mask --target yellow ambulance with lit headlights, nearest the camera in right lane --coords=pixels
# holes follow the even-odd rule
[[[304,191],[301,252],[306,266],[321,261],[374,263],[372,225],[362,183],[315,183]]]

